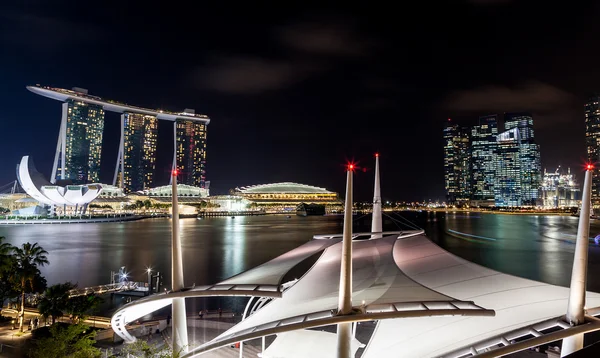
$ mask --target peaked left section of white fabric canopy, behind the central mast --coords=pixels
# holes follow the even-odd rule
[[[353,304],[360,306],[363,301],[365,305],[455,301],[413,281],[398,269],[392,255],[394,245],[402,241],[397,237],[392,235],[353,242]],[[272,301],[222,336],[279,319],[337,309],[341,249],[340,242],[327,248],[315,265],[284,292],[282,298]]]

